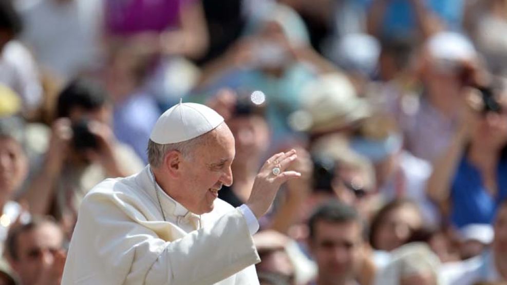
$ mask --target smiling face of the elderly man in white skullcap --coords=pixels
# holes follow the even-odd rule
[[[235,156],[234,137],[223,123],[207,135],[192,159],[182,164],[186,191],[174,197],[194,214],[209,213],[222,185],[232,184],[231,164]]]

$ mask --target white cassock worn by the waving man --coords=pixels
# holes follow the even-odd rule
[[[216,199],[200,217],[160,193],[149,166],[107,179],[83,200],[62,284],[259,284],[244,209]]]

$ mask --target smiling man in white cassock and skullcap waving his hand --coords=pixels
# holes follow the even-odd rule
[[[84,198],[62,284],[258,284],[252,241],[294,150],[259,170],[246,204],[217,199],[231,185],[234,137],[209,107],[179,103],[158,119],[144,170],[106,179]]]

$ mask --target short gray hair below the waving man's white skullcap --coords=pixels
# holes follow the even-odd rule
[[[152,140],[149,140],[148,148],[146,150],[148,154],[149,165],[159,167],[162,165],[165,155],[172,150],[179,151],[187,159],[193,159],[196,147],[206,140],[206,134],[187,141],[169,144],[158,144]]]

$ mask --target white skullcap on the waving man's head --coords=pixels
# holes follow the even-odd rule
[[[206,134],[222,122],[222,116],[212,108],[180,100],[158,118],[149,139],[158,144],[183,142]]]

